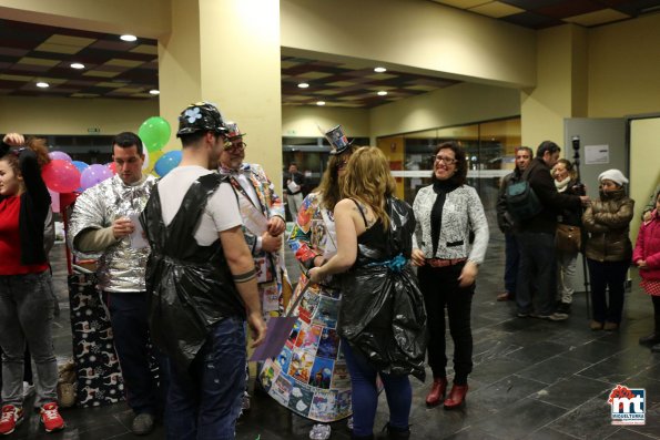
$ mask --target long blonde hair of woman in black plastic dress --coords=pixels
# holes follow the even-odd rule
[[[342,197],[353,198],[367,205],[385,229],[389,228],[389,216],[385,202],[396,190],[396,182],[389,171],[387,157],[375,146],[363,146],[355,151],[346,165],[346,175],[341,182]]]

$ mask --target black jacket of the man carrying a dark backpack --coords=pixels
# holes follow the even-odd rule
[[[550,175],[550,167],[540,157],[535,157],[525,172],[527,173],[529,186],[536,193],[544,208],[536,216],[521,222],[519,229],[521,232],[555,234],[557,215],[561,214],[566,208],[578,209],[582,204],[580,197],[560,194]]]

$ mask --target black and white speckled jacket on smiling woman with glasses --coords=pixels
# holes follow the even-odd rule
[[[484,205],[474,187],[461,185],[447,194],[443,206],[443,224],[436,255],[433,255],[430,238],[430,212],[437,194],[433,185],[417,192],[413,211],[417,227],[413,237],[413,247],[424,252],[426,258],[467,258],[481,264],[488,247],[488,222],[484,214]],[[470,246],[469,233],[475,233],[475,242]]]

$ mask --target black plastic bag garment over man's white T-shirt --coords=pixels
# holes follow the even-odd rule
[[[145,274],[151,338],[182,368],[195,358],[214,324],[229,316],[245,318],[220,239],[200,246],[194,238],[206,202],[222,181],[217,174],[197,178],[169,226],[155,186],[140,216],[151,245]]]

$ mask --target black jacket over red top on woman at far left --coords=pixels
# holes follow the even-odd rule
[[[0,157],[9,153],[10,146],[0,142]],[[19,167],[26,184],[26,192],[21,194],[21,209],[19,212],[19,234],[21,237],[21,264],[42,264],[48,258],[43,249],[43,225],[50,207],[50,193],[41,178],[41,170],[37,162],[37,154],[24,149],[19,153]],[[7,196],[0,195],[0,201]]]

